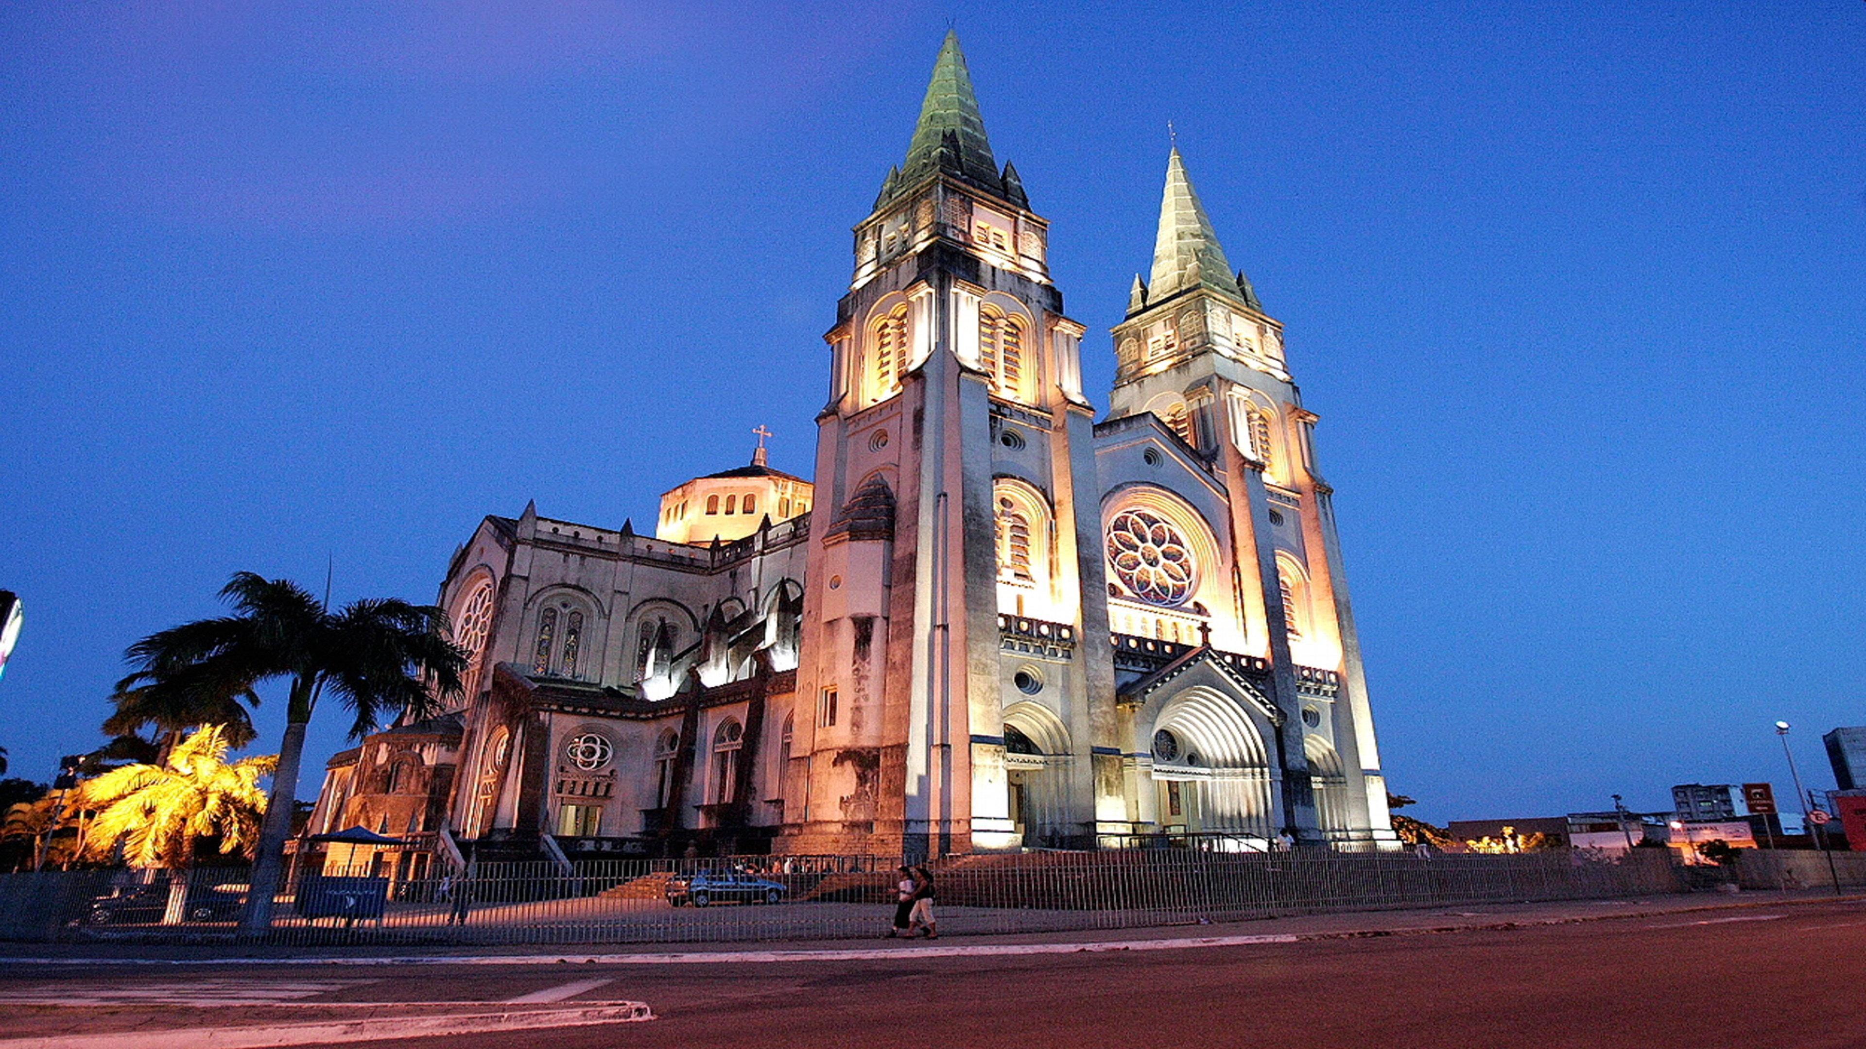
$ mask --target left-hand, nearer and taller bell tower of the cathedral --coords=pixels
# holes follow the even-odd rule
[[[780,849],[1019,844],[1000,612],[1099,646],[1043,681],[1082,754],[1071,819],[1093,825],[1090,750],[1114,702],[1107,608],[1080,599],[1105,588],[1093,420],[1082,325],[1062,314],[1047,252],[1049,224],[993,157],[948,34],[907,159],[855,226],[825,336],[793,737],[810,773],[786,797]]]

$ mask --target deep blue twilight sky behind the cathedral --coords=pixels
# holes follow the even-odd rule
[[[756,424],[808,472],[849,226],[948,19],[1101,403],[1176,123],[1323,416],[1414,812],[1786,784],[1778,717],[1831,786],[1859,0],[0,6],[13,775],[97,745],[123,648],[235,569],[425,601],[528,498],[642,526]]]

